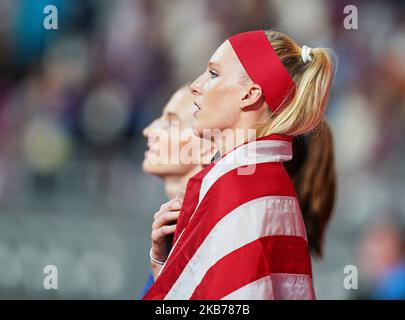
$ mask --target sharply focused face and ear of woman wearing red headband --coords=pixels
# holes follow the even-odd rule
[[[228,40],[215,51],[206,71],[190,89],[195,96],[193,130],[196,135],[202,137],[204,129],[254,127],[259,114],[249,111],[258,102],[263,103],[261,87],[249,79]]]

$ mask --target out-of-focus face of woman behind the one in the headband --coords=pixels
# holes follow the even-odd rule
[[[179,89],[165,105],[162,115],[149,124],[143,135],[148,139],[147,150],[143,161],[146,173],[159,177],[181,176],[195,168],[201,159],[192,159],[188,164],[179,159],[179,151],[191,145],[197,148],[200,139],[191,133],[194,97],[188,88]],[[173,130],[178,128],[178,134]],[[190,134],[185,134],[186,130]],[[177,154],[174,154],[176,153]],[[190,155],[191,157],[191,155]]]

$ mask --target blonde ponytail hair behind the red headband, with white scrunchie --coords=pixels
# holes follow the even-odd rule
[[[281,32],[266,30],[267,38],[294,79],[296,90],[286,96],[280,112],[268,113],[258,124],[257,136],[273,133],[297,136],[312,131],[324,117],[333,78],[331,51],[313,48],[304,63],[301,47]]]

